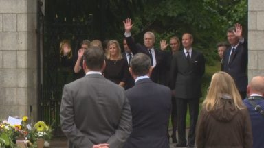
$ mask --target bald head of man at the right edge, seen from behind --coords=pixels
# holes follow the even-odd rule
[[[263,76],[256,76],[253,77],[248,84],[248,95],[253,93],[263,95],[264,96],[264,77]]]

